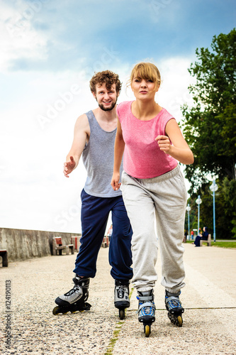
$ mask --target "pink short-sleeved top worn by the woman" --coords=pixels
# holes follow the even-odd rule
[[[155,178],[176,168],[178,161],[160,151],[155,138],[166,135],[167,122],[174,117],[166,109],[150,121],[140,121],[131,111],[132,102],[121,102],[117,107],[125,141],[124,170],[138,179]]]

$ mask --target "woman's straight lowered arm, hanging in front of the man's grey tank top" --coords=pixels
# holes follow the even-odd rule
[[[120,188],[120,165],[125,149],[125,142],[123,140],[123,133],[120,126],[120,121],[118,119],[117,131],[116,131],[116,140],[114,147],[114,167],[113,167],[113,177],[111,179],[111,186],[113,190],[118,190]]]

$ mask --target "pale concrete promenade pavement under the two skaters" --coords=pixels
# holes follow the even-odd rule
[[[96,278],[91,279],[89,312],[52,315],[55,297],[73,286],[75,255],[0,267],[1,354],[236,354],[236,251],[184,247],[183,327],[169,321],[159,280],[154,290],[156,322],[149,338],[137,322],[135,290],[125,320],[118,318],[108,249],[101,249]]]

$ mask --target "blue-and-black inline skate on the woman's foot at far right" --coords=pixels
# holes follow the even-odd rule
[[[168,311],[169,320],[178,327],[182,327],[183,318],[182,313],[184,313],[184,308],[181,305],[179,300],[179,295],[181,291],[178,293],[170,293],[166,290],[165,295],[165,304]]]

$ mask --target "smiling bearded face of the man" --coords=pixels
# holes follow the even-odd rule
[[[116,93],[116,84],[112,84],[110,89],[106,88],[106,84],[96,84],[96,94],[93,92],[100,109],[103,111],[111,111],[118,99]]]

